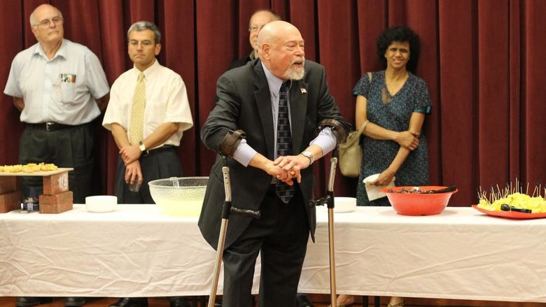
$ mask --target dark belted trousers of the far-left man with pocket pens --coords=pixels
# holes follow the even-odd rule
[[[69,171],[69,190],[74,204],[85,204],[92,190],[93,143],[92,124],[53,131],[27,124],[19,140],[19,163],[44,162],[73,168]],[[42,177],[21,177],[21,192],[24,198],[38,197],[43,193]]]

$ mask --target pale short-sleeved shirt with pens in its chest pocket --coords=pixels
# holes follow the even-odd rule
[[[19,52],[3,92],[25,101],[22,122],[85,124],[100,115],[95,99],[108,94],[109,85],[98,57],[64,39],[52,59],[40,43]]]

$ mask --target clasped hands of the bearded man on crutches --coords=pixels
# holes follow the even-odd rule
[[[276,158],[275,161],[269,160],[265,171],[287,185],[293,185],[294,178],[297,183],[302,182],[301,170],[307,169],[309,164],[311,161],[303,155],[282,156]]]

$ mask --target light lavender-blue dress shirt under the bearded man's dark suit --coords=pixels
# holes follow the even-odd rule
[[[274,158],[277,158],[276,155],[276,124],[277,117],[279,116],[279,90],[281,90],[281,85],[283,80],[274,76],[265,65],[262,63],[263,71],[265,72],[265,78],[267,78],[267,85],[269,85],[269,95],[271,97],[271,110],[273,114],[273,130],[275,136],[275,145],[274,145]],[[290,86],[292,83],[290,83]],[[290,115],[290,98],[286,97],[288,103],[288,115]],[[288,118],[291,118],[290,116]],[[290,122],[290,129],[292,128],[292,122]],[[321,132],[314,138],[309,145],[318,145],[322,149],[323,155],[326,155],[328,152],[334,150],[336,144],[336,138],[332,134],[332,129],[327,127],[322,129]],[[235,153],[233,154],[233,159],[244,166],[248,166],[248,163],[251,162],[252,158],[258,154],[251,145],[246,143],[245,139],[241,140],[241,143],[237,146]]]

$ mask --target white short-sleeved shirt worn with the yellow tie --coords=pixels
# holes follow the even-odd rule
[[[111,130],[115,122],[120,124],[127,135],[130,134],[131,110],[134,96],[134,87],[139,78],[139,69],[132,69],[122,73],[112,85],[110,101],[104,113],[103,127]],[[165,145],[180,145],[183,131],[193,127],[193,119],[188,101],[186,85],[178,73],[159,64],[154,64],[144,71],[146,84],[146,106],[144,107],[144,138],[152,134],[160,124],[177,122],[180,124]]]

